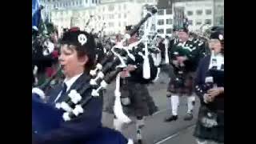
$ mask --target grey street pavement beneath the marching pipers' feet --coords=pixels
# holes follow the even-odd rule
[[[186,97],[180,98],[180,105],[178,108],[178,120],[175,122],[164,122],[164,118],[170,115],[170,104],[166,101],[166,88],[169,82],[169,75],[161,73],[160,78],[154,84],[148,86],[150,95],[154,98],[154,102],[158,106],[158,112],[150,117],[145,118],[145,126],[142,128],[142,138],[146,144],[195,144],[193,137],[194,124],[198,116],[199,101],[196,98],[196,105],[194,107],[194,118],[191,121],[184,121],[186,114]],[[114,98],[113,82],[104,94],[104,107],[108,105]],[[113,128],[113,114],[103,111],[102,124]],[[132,118],[134,119],[134,118]],[[135,124],[131,122],[124,126],[122,134],[126,138],[136,139]]]

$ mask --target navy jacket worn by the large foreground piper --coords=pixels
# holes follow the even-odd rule
[[[70,90],[77,89],[79,86],[88,86],[88,75],[82,74],[70,87]],[[87,81],[86,81],[87,78]],[[50,98],[48,100],[48,105],[54,107],[54,99],[58,96],[62,89],[60,86],[57,86],[56,89],[50,90]],[[67,94],[69,94],[69,91]],[[89,97],[91,90],[87,90],[85,94],[82,94],[82,97]],[[66,95],[67,96],[67,95]],[[59,98],[63,100],[64,98]],[[59,101],[58,101],[59,102]],[[47,115],[47,114],[46,114]],[[42,116],[41,116],[42,117]],[[51,118],[49,115],[46,118]],[[53,116],[53,118],[56,118]],[[56,121],[56,120],[53,120]],[[85,142],[86,138],[90,138],[90,135],[95,134],[97,130],[102,127],[102,98],[92,98],[91,101],[86,105],[84,113],[74,118],[69,122],[63,122],[60,120],[60,125],[57,129],[50,130],[45,134],[41,134],[38,137],[37,143],[45,144],[63,144],[63,143],[80,143]]]

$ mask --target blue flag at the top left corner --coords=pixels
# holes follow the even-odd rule
[[[41,21],[41,9],[39,0],[32,0],[32,26],[38,28]]]

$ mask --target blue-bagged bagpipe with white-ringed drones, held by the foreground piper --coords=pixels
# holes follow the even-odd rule
[[[87,79],[90,80],[90,86],[71,90],[70,94],[67,94],[68,96],[66,96],[66,99],[61,103],[56,103],[55,106],[49,105],[42,100],[45,98],[42,90],[46,90],[50,80],[54,79],[54,77],[50,78],[44,85],[32,90],[32,127],[35,136],[40,137],[40,135],[46,134],[50,130],[58,129],[62,122],[68,122],[73,118],[79,117],[79,115],[86,110],[84,107],[90,103],[93,98],[98,98],[100,96],[101,91],[106,89],[106,86],[113,81],[123,68],[126,67],[126,62],[124,60],[126,51],[115,48],[113,48],[112,51],[114,54],[113,62],[110,62],[110,60],[113,59],[113,55],[109,55],[109,57],[104,59],[102,63],[98,63],[95,70],[90,71],[90,77]],[[86,79],[84,80],[87,81]],[[89,93],[90,91],[90,96],[82,98],[82,95]],[[101,139],[104,137],[103,139],[105,141],[102,139],[103,142],[110,140],[106,135],[112,135],[117,136],[118,139],[121,138],[122,143],[126,143],[122,134],[119,134],[114,130],[111,131],[108,128],[102,127],[95,134]],[[90,138],[89,143],[97,143],[99,141],[95,134],[92,135],[94,138]],[[88,141],[86,141],[86,143],[87,142]],[[113,141],[111,140],[111,142]]]

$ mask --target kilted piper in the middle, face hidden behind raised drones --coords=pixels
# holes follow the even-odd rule
[[[131,26],[126,26],[126,33],[131,30]],[[136,34],[131,37],[128,44],[137,42],[138,38]],[[153,98],[150,96],[147,84],[149,80],[145,80],[142,76],[143,71],[143,58],[136,55],[136,62],[128,65],[128,67],[121,73],[121,102],[124,113],[129,117],[136,118],[136,143],[142,144],[142,127],[145,125],[144,117],[154,114],[158,107],[155,106]],[[140,64],[138,64],[140,63]],[[153,58],[150,58],[150,73],[151,81],[154,80],[154,76],[157,73],[157,67],[154,66]],[[155,74],[153,74],[153,71]],[[124,123],[120,122],[117,118],[114,118],[114,128],[122,131]]]

